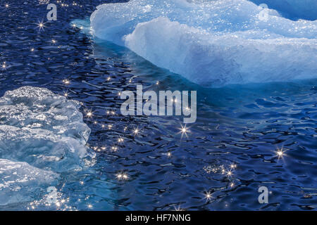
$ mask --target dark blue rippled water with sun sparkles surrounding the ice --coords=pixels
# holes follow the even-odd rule
[[[84,115],[93,112],[85,122],[97,158],[90,169],[61,174],[58,205],[46,206],[34,193],[31,203],[1,210],[316,209],[317,80],[206,89],[128,49],[92,39],[82,32],[85,24],[82,30],[79,23],[71,26],[105,1],[63,1],[69,5],[63,7],[51,1],[58,20],[47,23],[44,1],[10,1],[8,8],[4,2],[0,96],[26,85],[67,92],[83,103]],[[120,115],[118,93],[135,91],[136,84],[197,90],[198,118],[187,136],[180,133],[182,117]],[[118,179],[120,173],[129,179]],[[260,186],[270,191],[268,204],[258,202]]]

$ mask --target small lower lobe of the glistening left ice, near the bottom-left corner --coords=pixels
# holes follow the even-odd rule
[[[0,159],[0,205],[33,200],[57,178],[54,172],[32,167],[27,162]]]

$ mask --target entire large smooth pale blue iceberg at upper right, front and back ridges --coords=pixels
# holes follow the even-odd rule
[[[90,21],[96,37],[204,86],[316,78],[317,20],[264,13],[246,0],[132,0]]]

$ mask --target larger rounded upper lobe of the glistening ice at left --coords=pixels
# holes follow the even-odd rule
[[[80,168],[90,129],[78,108],[48,89],[7,91],[0,98],[0,158],[54,172]]]

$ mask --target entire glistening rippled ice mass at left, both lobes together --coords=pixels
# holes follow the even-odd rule
[[[58,173],[82,168],[90,129],[79,108],[32,86],[0,98],[0,205],[32,200]]]

